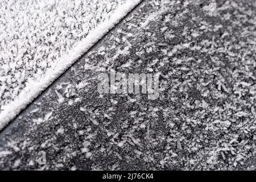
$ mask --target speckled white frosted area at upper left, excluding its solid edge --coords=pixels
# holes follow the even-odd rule
[[[40,82],[46,73],[52,74],[49,69],[69,64],[63,56],[125,2],[1,1],[0,114],[11,101],[19,104],[25,87],[33,89],[31,80]]]

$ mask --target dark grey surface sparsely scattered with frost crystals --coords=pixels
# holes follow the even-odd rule
[[[256,5],[216,4],[143,2],[2,131],[0,169],[255,170]],[[111,69],[159,98],[98,94]]]

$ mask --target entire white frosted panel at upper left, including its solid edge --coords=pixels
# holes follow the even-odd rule
[[[1,1],[0,129],[140,1]]]

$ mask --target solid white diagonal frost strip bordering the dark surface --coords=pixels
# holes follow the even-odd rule
[[[99,24],[94,30],[81,40],[75,48],[67,55],[60,57],[56,61],[58,67],[49,68],[44,77],[37,81],[28,81],[27,86],[22,89],[18,97],[9,104],[2,106],[3,111],[0,113],[0,130],[3,129],[12,119],[16,117],[39,96],[61,73],[65,72],[77,59],[98,42],[106,33],[109,32],[122,18],[124,18],[135,6],[142,0],[130,0],[118,7],[106,22]],[[59,64],[58,64],[59,63]]]

